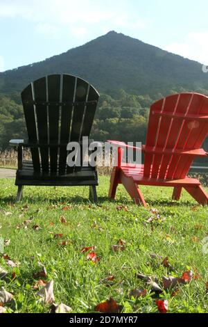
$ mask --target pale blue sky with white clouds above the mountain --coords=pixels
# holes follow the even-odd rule
[[[208,64],[205,0],[0,0],[0,72],[112,30]]]

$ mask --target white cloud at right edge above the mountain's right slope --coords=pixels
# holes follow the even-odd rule
[[[189,33],[182,42],[173,42],[164,47],[165,50],[179,54],[185,58],[208,64],[208,32]]]

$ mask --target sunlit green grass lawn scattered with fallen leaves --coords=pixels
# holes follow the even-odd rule
[[[24,199],[15,204],[17,187],[14,180],[0,180],[0,236],[10,239],[4,248],[19,268],[6,266],[3,257],[0,266],[8,271],[8,278],[0,279],[0,287],[14,294],[13,303],[6,305],[8,312],[49,312],[49,306],[37,302],[33,273],[40,271],[38,261],[46,267],[46,280],[54,280],[56,303],[69,305],[73,312],[94,312],[95,305],[114,298],[123,305],[123,312],[158,312],[153,294],[136,273],[148,276],[182,276],[184,271],[197,271],[199,278],[171,296],[171,291],[160,294],[167,299],[169,312],[207,312],[206,295],[208,254],[202,252],[202,239],[207,236],[207,207],[200,207],[187,193],[180,202],[171,200],[172,189],[141,187],[148,208],[132,203],[123,186],[119,186],[116,201],[107,200],[109,177],[100,177],[98,205],[87,200],[87,187],[30,187],[24,189]],[[118,206],[126,206],[119,210]],[[67,210],[62,208],[68,206]],[[157,208],[161,218],[147,223]],[[6,215],[5,212],[11,214]],[[60,223],[64,215],[67,225]],[[28,228],[17,228],[33,216]],[[96,221],[96,223],[94,223]],[[51,224],[53,223],[53,224]],[[33,230],[39,225],[40,230]],[[67,246],[58,246],[53,234],[64,234],[70,240]],[[113,252],[112,245],[125,241],[125,250]],[[94,264],[81,253],[85,246],[96,246],[101,257]],[[173,271],[151,253],[168,257]],[[17,278],[10,278],[12,272]],[[114,275],[107,287],[103,278]],[[160,282],[159,282],[160,283]],[[161,284],[160,284],[161,285]],[[130,298],[135,288],[146,288],[147,295]]]

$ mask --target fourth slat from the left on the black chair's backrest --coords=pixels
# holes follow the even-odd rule
[[[71,113],[73,102],[74,88],[76,83],[76,77],[70,75],[63,75],[62,81],[62,102],[67,103],[67,105],[62,106],[61,113],[61,126],[60,126],[60,143],[69,142],[69,131],[71,125]],[[60,157],[59,157],[59,173],[64,174],[67,166],[67,146],[60,147]]]

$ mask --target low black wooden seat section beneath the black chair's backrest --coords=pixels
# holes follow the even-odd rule
[[[71,173],[36,172],[33,161],[24,160],[22,169],[17,170],[16,185],[48,185],[48,186],[87,186],[98,185],[96,170],[92,167],[80,167]]]

